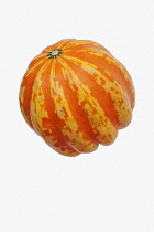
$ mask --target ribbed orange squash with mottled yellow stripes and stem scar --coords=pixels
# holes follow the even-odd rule
[[[30,63],[20,87],[29,126],[65,156],[110,145],[127,127],[134,87],[125,67],[90,40],[62,40]]]

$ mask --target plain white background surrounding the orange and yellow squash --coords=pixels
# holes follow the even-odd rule
[[[0,232],[154,231],[153,12],[152,0],[1,0]],[[30,61],[66,38],[105,45],[136,91],[116,143],[75,158],[52,150],[19,108]]]

